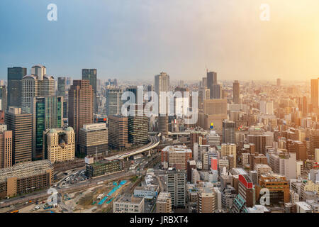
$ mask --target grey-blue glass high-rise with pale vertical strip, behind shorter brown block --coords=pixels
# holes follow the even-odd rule
[[[110,88],[106,89],[106,115],[121,114],[123,106],[123,89]]]

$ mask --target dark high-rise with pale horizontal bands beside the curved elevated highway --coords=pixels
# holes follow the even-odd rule
[[[148,118],[142,105],[132,106],[134,116],[128,116],[128,143],[145,144],[148,141]]]

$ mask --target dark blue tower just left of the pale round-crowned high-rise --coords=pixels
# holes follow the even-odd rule
[[[8,68],[8,109],[9,106],[21,107],[22,78],[26,74],[26,68]]]

